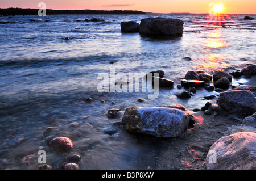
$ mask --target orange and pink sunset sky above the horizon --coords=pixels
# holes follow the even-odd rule
[[[0,8],[22,7],[39,9],[44,2],[53,10],[138,10],[143,12],[208,13],[210,3],[222,3],[225,14],[256,14],[255,0],[0,0]]]

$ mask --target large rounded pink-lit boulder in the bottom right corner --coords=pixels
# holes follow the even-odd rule
[[[240,132],[220,138],[210,147],[205,165],[207,170],[255,170],[256,133]]]

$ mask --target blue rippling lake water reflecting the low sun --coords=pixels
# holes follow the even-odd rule
[[[152,39],[121,33],[122,21],[139,23],[150,16],[183,20],[183,36]],[[83,21],[94,17],[105,22]],[[47,151],[47,163],[58,167],[67,155],[48,148],[43,136],[47,127],[56,127],[55,136],[73,140],[71,154],[82,157],[81,169],[154,169],[145,160],[163,145],[152,145],[147,137],[112,124],[121,120],[129,106],[180,103],[192,111],[205,104],[204,95],[218,95],[201,90],[189,100],[180,100],[176,93],[182,90],[176,85],[188,70],[213,73],[255,64],[256,22],[243,17],[229,15],[221,21],[193,14],[1,17],[1,21],[16,22],[0,24],[0,158],[7,159],[1,169],[36,169],[38,164],[27,166],[20,158],[40,149]],[[32,18],[36,22],[30,22]],[[160,89],[154,100],[147,99],[146,93],[98,92],[98,74],[110,74],[113,68],[115,73],[164,70],[165,77],[175,81],[174,89]],[[247,81],[234,79],[233,83]],[[88,97],[93,102],[85,102]],[[146,102],[139,103],[138,98]],[[121,108],[119,117],[108,118],[110,108]],[[109,129],[114,134],[105,132]]]

